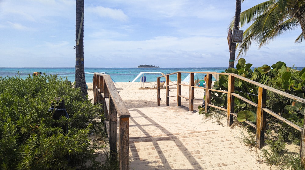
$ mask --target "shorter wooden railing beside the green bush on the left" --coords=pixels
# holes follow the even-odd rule
[[[109,75],[94,73],[94,103],[102,104],[105,125],[109,137],[110,157],[119,157],[120,169],[127,170],[129,162],[129,117],[130,113],[121,99],[117,88]],[[119,134],[117,136],[117,116],[119,117]],[[118,139],[118,141],[117,141]],[[117,148],[119,144],[119,149]]]

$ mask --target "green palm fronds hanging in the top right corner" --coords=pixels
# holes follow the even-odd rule
[[[244,31],[243,42],[237,44],[239,54],[245,55],[253,41],[262,47],[277,36],[301,26],[302,33],[296,38],[301,43],[305,34],[304,0],[269,0],[241,13],[239,26],[250,26]],[[233,27],[231,22],[230,28]]]

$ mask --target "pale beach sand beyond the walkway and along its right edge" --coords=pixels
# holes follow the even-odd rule
[[[175,82],[173,82],[175,83]],[[93,99],[93,84],[87,83],[88,85],[88,96],[89,99]],[[157,90],[154,88],[156,85],[156,82],[145,82],[144,88],[142,83],[140,82],[117,82],[115,83],[115,86],[117,88],[117,91],[119,91],[119,94],[121,98],[123,99],[126,107],[128,110],[135,110],[135,109],[144,109],[145,112],[150,112],[149,109],[153,109],[154,107],[157,107]],[[189,88],[188,86],[182,86],[181,87],[181,95],[182,96],[188,96]],[[165,89],[160,89],[161,92],[161,106],[165,106]],[[177,87],[170,86],[170,96],[177,95]],[[207,119],[204,119],[203,114],[198,113],[197,107],[202,105],[204,95],[204,89],[197,89],[195,88],[194,92],[194,110],[196,112],[190,112],[192,113],[190,116],[188,116],[189,119],[194,120],[194,122],[199,121],[199,125],[202,124],[202,126],[206,126],[212,129],[217,129],[217,133],[221,133],[221,135],[225,136],[225,141],[231,141],[229,147],[221,148],[221,154],[224,154],[223,156],[225,159],[227,159],[228,162],[236,162],[234,157],[231,157],[231,150],[232,148],[238,149],[237,153],[240,154],[241,159],[244,160],[243,162],[245,165],[242,165],[242,163],[239,166],[242,166],[243,169],[272,169],[269,165],[260,163],[262,162],[261,157],[259,156],[260,150],[257,148],[251,148],[249,146],[246,146],[238,137],[241,136],[240,130],[244,131],[246,134],[246,130],[244,130],[242,127],[239,126],[226,126],[226,117],[225,116],[217,116],[217,117],[209,117]],[[170,97],[170,106],[177,106],[177,97]],[[181,105],[188,107],[189,101],[181,98]],[[131,111],[130,111],[131,112]],[[133,116],[133,112],[131,112],[131,118]],[[196,121],[195,121],[196,120]],[[130,126],[132,125],[132,122],[130,122]],[[134,125],[132,125],[134,126]],[[148,128],[148,127],[147,127]],[[219,143],[219,139],[215,139],[215,141],[210,141],[213,143]],[[192,142],[189,141],[188,144],[191,144]],[[197,147],[197,146],[192,146]],[[212,148],[211,148],[212,149]],[[212,149],[213,150],[213,149]],[[177,159],[177,158],[175,158]],[[181,161],[185,159],[183,156],[181,157]],[[137,167],[140,165],[141,161],[131,161],[131,166]],[[137,164],[137,165],[134,165]],[[239,163],[238,163],[239,164]],[[158,166],[157,164],[154,166]],[[240,168],[240,167],[239,167]],[[221,168],[222,169],[222,168]],[[232,169],[238,169],[233,168]]]

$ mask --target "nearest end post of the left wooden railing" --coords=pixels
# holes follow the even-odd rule
[[[129,164],[129,117],[119,119],[119,166],[128,170]]]

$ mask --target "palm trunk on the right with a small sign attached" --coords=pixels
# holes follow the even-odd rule
[[[239,20],[240,20],[241,6],[242,6],[241,0],[236,0],[235,19],[234,19],[233,29],[239,29],[238,26],[239,26]],[[236,51],[236,43],[231,42],[229,68],[234,68],[235,51]]]

